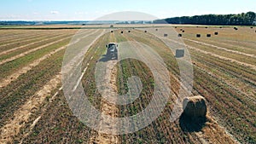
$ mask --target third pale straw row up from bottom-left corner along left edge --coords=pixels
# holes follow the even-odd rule
[[[44,44],[44,45],[39,46],[38,48],[35,48],[35,49],[30,49],[30,50],[28,50],[28,51],[26,51],[26,52],[24,52],[24,53],[21,53],[20,55],[15,55],[15,56],[13,56],[13,57],[7,59],[7,60],[0,61],[0,65],[3,65],[4,63],[9,62],[9,61],[11,61],[11,60],[18,59],[18,58],[20,58],[20,57],[22,57],[22,56],[28,55],[28,54],[30,54],[30,53],[32,53],[32,52],[38,50],[38,49],[43,49],[43,48],[45,48],[45,47],[48,47],[49,45],[52,45],[52,44],[59,43],[59,42],[61,42],[61,41],[67,40],[68,38],[71,38],[71,37],[61,38],[61,39],[59,39],[59,40],[57,40],[57,41],[55,41],[55,42],[51,42],[51,43]]]

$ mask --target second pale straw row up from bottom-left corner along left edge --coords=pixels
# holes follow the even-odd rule
[[[92,33],[90,33],[90,34],[92,34]],[[87,34],[84,37],[88,37],[90,34]],[[84,37],[81,37],[81,38],[84,38]],[[55,49],[55,50],[51,51],[49,54],[44,55],[43,57],[39,58],[38,60],[34,60],[31,64],[22,67],[18,72],[15,72],[15,73],[9,75],[7,78],[2,79],[1,83],[0,83],[0,88],[3,88],[5,86],[7,86],[8,84],[10,84],[12,81],[15,81],[15,79],[19,78],[21,74],[24,74],[24,73],[30,71],[32,69],[32,67],[38,66],[38,64],[41,61],[49,58],[49,56],[54,55],[55,53],[57,53],[58,51],[61,51],[62,49],[66,49],[69,45],[78,43],[81,38],[79,38],[77,41],[75,41],[73,43],[69,43],[65,46],[62,46],[59,49]]]

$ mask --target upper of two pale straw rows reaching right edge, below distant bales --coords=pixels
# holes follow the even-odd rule
[[[236,50],[225,49],[223,47],[219,47],[219,46],[216,46],[216,45],[213,45],[213,44],[204,43],[204,42],[200,42],[200,41],[195,41],[195,40],[188,39],[188,38],[183,38],[183,39],[187,40],[189,42],[198,43],[198,44],[201,44],[201,45],[205,45],[205,46],[208,46],[208,47],[224,50],[224,51],[231,52],[231,53],[234,53],[234,54],[245,55],[245,56],[249,56],[249,57],[252,57],[252,58],[256,58],[256,55],[253,55],[253,54],[250,55],[250,54],[242,53],[242,52],[239,52],[239,51],[236,51]]]

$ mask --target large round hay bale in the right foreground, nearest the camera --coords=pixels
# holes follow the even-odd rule
[[[185,98],[183,100],[183,114],[189,118],[206,118],[206,99],[201,95]]]

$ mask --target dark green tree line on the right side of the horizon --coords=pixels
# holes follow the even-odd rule
[[[206,14],[195,16],[183,16],[165,19],[169,24],[195,24],[195,25],[234,25],[251,26],[255,20],[254,12],[241,14]],[[155,20],[154,23],[162,23],[163,20]]]

